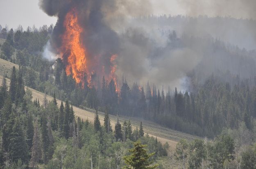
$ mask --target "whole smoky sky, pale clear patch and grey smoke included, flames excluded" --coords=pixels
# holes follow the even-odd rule
[[[118,54],[118,77],[125,75],[130,81],[143,85],[150,81],[157,86],[180,86],[186,74],[202,61],[204,48],[201,42],[195,41],[184,42],[188,45],[181,48],[172,48],[168,36],[154,30],[152,24],[143,24],[132,18],[170,14],[253,19],[240,27],[229,24],[223,30],[220,29],[223,23],[213,20],[212,26],[205,30],[206,22],[201,18],[203,24],[190,22],[180,25],[176,30],[196,36],[204,35],[204,31],[207,34],[208,31],[213,37],[216,30],[215,38],[223,37],[225,42],[242,48],[256,48],[256,0],[40,0],[40,4],[39,0],[0,0],[0,24],[7,24],[9,28],[23,25],[24,29],[33,24],[36,27],[54,24],[54,32],[48,42],[50,50],[47,47],[45,51],[59,55],[70,50],[63,50],[65,43],[61,37],[65,34],[63,23],[71,6],[77,10],[79,25],[86,30],[80,34],[80,40],[90,56],[87,59],[91,61],[93,69],[111,67],[109,57]],[[233,27],[240,29],[232,34]],[[236,35],[238,33],[242,36]],[[233,37],[238,38],[234,40]],[[248,42],[251,43],[247,45]],[[45,57],[54,58],[49,53]],[[95,59],[100,60],[97,62]],[[107,69],[105,71],[110,72]]]

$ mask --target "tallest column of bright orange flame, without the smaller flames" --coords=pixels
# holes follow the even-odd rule
[[[64,27],[66,28],[66,31],[62,35],[61,56],[63,59],[67,58],[66,73],[67,75],[72,75],[77,83],[84,83],[82,79],[84,73],[86,73],[87,53],[80,41],[80,34],[83,29],[78,24],[75,9],[72,9],[67,13]]]

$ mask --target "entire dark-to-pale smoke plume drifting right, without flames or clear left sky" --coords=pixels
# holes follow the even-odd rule
[[[210,16],[231,15],[235,18],[256,19],[255,0],[206,1],[177,0],[191,16],[205,13]],[[238,29],[229,29],[236,26],[232,20],[225,25],[216,18],[207,17],[181,18],[177,20],[180,22],[173,25],[160,23],[160,20],[151,22],[147,18],[141,22],[138,18],[150,15],[154,9],[150,0],[40,0],[39,5],[48,15],[58,17],[50,40],[53,53],[58,54],[57,49],[61,45],[60,35],[64,31],[64,18],[68,11],[75,7],[79,24],[86,30],[82,41],[88,49],[91,69],[97,72],[104,66],[105,72],[109,72],[110,56],[118,54],[116,74],[119,79],[125,75],[131,83],[137,81],[145,85],[150,81],[159,88],[162,85],[165,88],[179,87],[184,79],[187,79],[187,74],[197,67],[201,66],[200,71],[204,72],[202,79],[216,69],[224,70],[227,67],[227,70],[231,70],[236,67],[234,65],[239,62],[230,66],[220,65],[220,61],[215,64],[212,62],[216,55],[219,60],[227,56],[226,51],[216,54],[214,42],[204,42],[212,37],[224,42],[233,42],[240,47],[249,46],[249,49],[256,45],[255,21],[242,20]],[[186,22],[183,22],[184,20]],[[176,30],[177,34],[170,30]],[[245,30],[246,33],[240,30]],[[234,37],[235,33],[238,34]],[[189,37],[184,38],[184,34],[199,38],[191,40]],[[179,37],[182,37],[182,40],[178,40]],[[214,40],[210,40],[212,41]],[[232,59],[231,56],[228,58]],[[97,64],[93,64],[95,60]]]

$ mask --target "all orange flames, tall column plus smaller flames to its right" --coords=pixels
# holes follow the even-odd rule
[[[105,65],[102,65],[102,68],[97,70],[97,66],[95,65],[99,65],[98,56],[90,56],[86,49],[86,44],[84,44],[83,38],[81,37],[81,34],[86,30],[79,25],[78,13],[75,8],[72,8],[66,14],[63,27],[65,31],[61,35],[62,44],[59,48],[59,53],[66,65],[66,74],[72,75],[77,83],[82,83],[82,86],[84,86],[85,74],[90,75],[90,72],[94,72],[91,75],[94,77],[96,75],[95,72],[97,72],[99,76],[109,77],[109,81],[113,79],[116,90],[118,91],[117,76],[115,74],[117,68],[115,60],[118,55],[111,55],[109,58],[109,71],[107,73],[105,72]],[[91,84],[93,79],[88,78],[87,81],[88,84]]]

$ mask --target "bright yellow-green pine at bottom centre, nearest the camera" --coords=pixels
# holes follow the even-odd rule
[[[123,158],[126,164],[124,169],[155,169],[158,166],[153,165],[154,162],[150,160],[154,153],[147,154],[145,147],[147,145],[142,145],[140,141],[134,143],[134,148],[129,149],[131,155]]]

